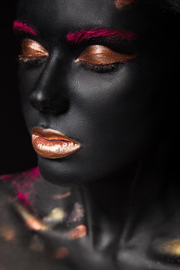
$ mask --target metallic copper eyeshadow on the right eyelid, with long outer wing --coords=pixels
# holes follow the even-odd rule
[[[136,56],[137,54],[116,53],[102,45],[91,45],[75,62],[88,62],[92,65],[110,65],[124,63],[130,59],[134,59]]]

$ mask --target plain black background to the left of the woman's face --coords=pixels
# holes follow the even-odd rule
[[[17,85],[16,59],[19,44],[12,29],[13,21],[16,19],[17,0],[3,1],[0,7],[0,175],[2,175],[29,169],[36,166],[37,160],[23,119]]]

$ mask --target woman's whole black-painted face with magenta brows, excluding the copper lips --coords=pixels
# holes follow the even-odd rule
[[[38,155],[44,178],[76,185],[139,158],[161,122],[168,73],[163,44],[152,35],[157,26],[143,4],[20,0],[17,21],[30,135],[40,127],[80,143],[64,157]]]

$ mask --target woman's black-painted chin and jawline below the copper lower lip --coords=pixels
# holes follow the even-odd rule
[[[102,159],[97,162],[90,157],[82,158],[78,153],[59,159],[48,159],[38,155],[38,166],[41,175],[48,182],[60,187],[73,187],[110,177],[112,173],[127,165],[125,160],[107,163],[106,159]],[[108,166],[109,164],[111,166]]]

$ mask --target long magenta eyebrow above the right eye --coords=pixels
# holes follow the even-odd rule
[[[126,32],[123,30],[111,30],[111,29],[89,29],[80,30],[74,33],[68,33],[66,35],[66,40],[74,44],[79,44],[85,39],[90,39],[94,37],[117,37],[123,39],[137,39],[138,36],[132,32]]]

